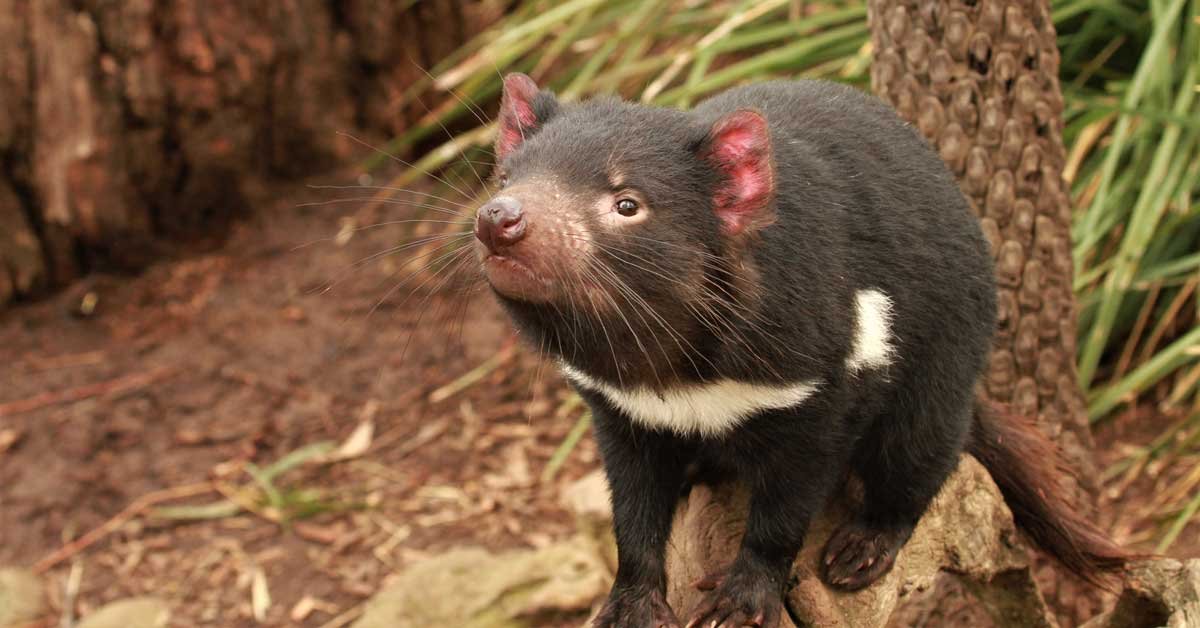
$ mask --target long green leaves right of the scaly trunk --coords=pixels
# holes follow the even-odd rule
[[[1080,2],[1085,4],[1085,2]],[[1080,382],[1102,418],[1198,400],[1200,2],[1086,2],[1061,28]]]

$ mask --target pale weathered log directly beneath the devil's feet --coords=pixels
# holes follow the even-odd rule
[[[733,560],[746,501],[743,489],[722,485],[698,486],[680,502],[667,552],[672,608],[694,608],[700,592],[690,582]],[[1012,514],[988,472],[970,456],[930,504],[892,572],[854,594],[836,593],[816,575],[826,539],[850,509],[839,503],[812,525],[792,568],[797,584],[787,596],[788,617],[781,628],[887,626],[899,605],[935,587],[943,573],[965,582],[997,626],[1057,626],[1038,592]]]

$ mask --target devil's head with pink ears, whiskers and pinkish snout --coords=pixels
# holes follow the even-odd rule
[[[712,336],[752,306],[746,251],[775,220],[763,116],[560,104],[509,74],[498,126],[476,247],[518,328],[614,383],[702,373]]]

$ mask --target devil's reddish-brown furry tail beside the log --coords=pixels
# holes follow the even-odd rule
[[[967,450],[1000,486],[1016,525],[1043,550],[1084,580],[1109,587],[1136,556],[1117,546],[1072,503],[1058,482],[1058,449],[1028,419],[976,402]]]

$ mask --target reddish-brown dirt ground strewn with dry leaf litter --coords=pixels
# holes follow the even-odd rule
[[[598,461],[583,438],[540,478],[580,415],[562,381],[486,291],[428,275],[394,289],[414,256],[367,258],[414,223],[353,231],[412,209],[262,196],[215,252],[0,312],[0,566],[43,570],[46,626],[142,593],[179,626],[342,626],[432,552],[571,530],[560,489]],[[1105,429],[1105,459],[1162,420]],[[349,455],[254,479],[316,443]],[[1140,482],[1109,510],[1129,538],[1154,495]],[[202,508],[158,510],[180,504]],[[1195,556],[1194,532],[1172,554]]]

